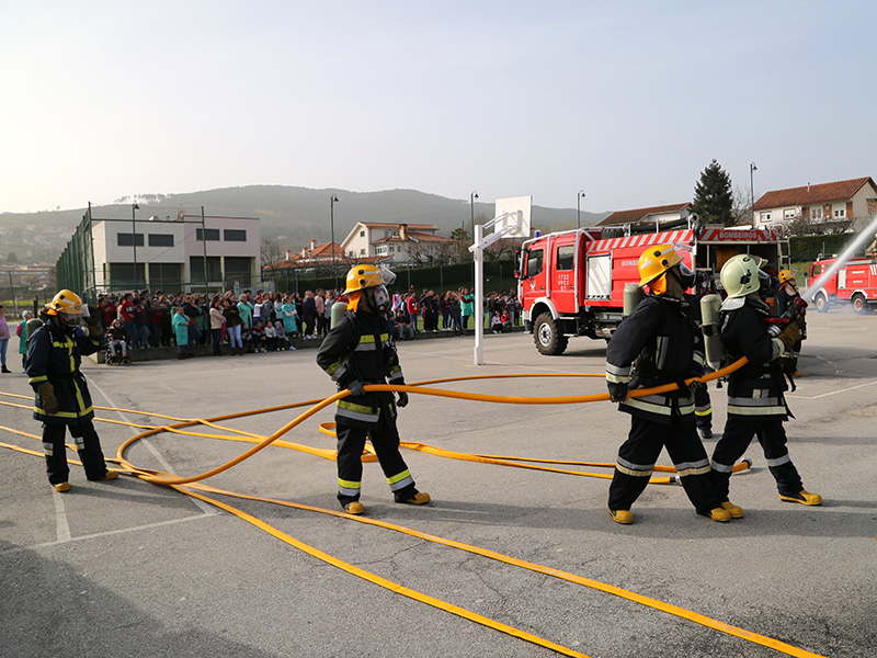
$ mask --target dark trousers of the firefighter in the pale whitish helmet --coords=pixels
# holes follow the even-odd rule
[[[776,480],[776,488],[784,496],[791,496],[804,489],[798,469],[788,456],[786,430],[779,418],[745,417],[729,413],[725,432],[713,453],[713,481],[721,500],[728,500],[731,469],[737,461],[758,436],[767,460],[767,468]]]

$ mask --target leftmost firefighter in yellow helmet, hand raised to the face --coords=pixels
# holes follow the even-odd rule
[[[79,458],[90,480],[110,480],[117,470],[106,468],[101,441],[94,431],[94,410],[86,377],[79,370],[82,355],[102,348],[103,330],[95,310],[76,293],[60,291],[41,314],[43,326],[27,339],[24,368],[36,393],[34,418],[43,422],[46,473],[56,491],[69,491],[70,468],[65,452],[65,432],[76,442]],[[83,331],[80,321],[86,321]]]

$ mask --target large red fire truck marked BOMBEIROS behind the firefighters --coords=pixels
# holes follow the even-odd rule
[[[524,327],[539,352],[562,354],[571,336],[608,340],[622,321],[625,285],[639,283],[639,257],[649,245],[673,245],[685,264],[718,286],[716,273],[738,253],[764,258],[766,268],[788,266],[788,240],[781,228],[728,228],[691,219],[659,228],[580,228],[523,243],[517,293]]]

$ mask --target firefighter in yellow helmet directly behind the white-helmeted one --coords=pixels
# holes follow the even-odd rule
[[[669,245],[649,247],[639,257],[640,286],[649,294],[637,305],[606,348],[606,383],[618,409],[630,415],[630,432],[618,450],[610,485],[610,514],[633,523],[630,506],[646,489],[654,463],[667,447],[685,494],[698,514],[726,522],[742,510],[721,506],[709,460],[697,435],[694,396],[681,382],[704,371],[704,344],[684,292],[694,274]],[[628,389],[680,383],[682,388],[628,398]]]

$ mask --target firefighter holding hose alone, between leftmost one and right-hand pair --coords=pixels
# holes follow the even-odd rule
[[[414,479],[399,453],[396,407],[408,405],[408,394],[399,393],[398,402],[389,392],[363,390],[368,384],[405,385],[396,345],[390,337],[387,309],[390,296],[387,284],[396,275],[386,268],[356,265],[348,272],[348,310],[323,339],[317,364],[334,379],[339,389],[350,395],[338,400],[338,500],[351,514],[362,514],[362,454],[366,436],[377,454],[380,467],[396,502],[423,504],[430,495],[418,491]]]

